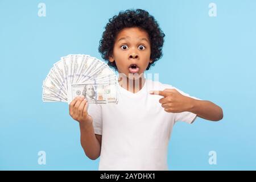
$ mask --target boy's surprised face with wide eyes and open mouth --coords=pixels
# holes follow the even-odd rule
[[[138,27],[124,28],[115,39],[113,56],[109,61],[115,61],[118,72],[127,77],[133,73],[141,75],[152,63],[150,53],[150,39],[146,31]]]

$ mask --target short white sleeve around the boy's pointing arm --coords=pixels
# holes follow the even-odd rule
[[[184,93],[184,92],[182,92],[181,90],[179,90],[177,88],[174,88],[174,89],[176,89],[179,93],[183,94],[183,96],[187,96],[187,97],[191,97],[191,98],[196,99],[196,100],[200,100],[199,98],[189,96],[189,94]],[[195,121],[196,117],[197,117],[196,114],[185,111],[185,112],[182,112],[182,113],[175,113],[174,114],[174,121],[175,121],[175,123],[177,121],[184,121],[184,122],[187,122],[189,124],[192,124]]]

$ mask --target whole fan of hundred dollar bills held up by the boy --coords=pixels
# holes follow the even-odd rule
[[[61,57],[43,81],[44,102],[84,96],[92,104],[117,104],[118,79],[108,64],[89,55]]]

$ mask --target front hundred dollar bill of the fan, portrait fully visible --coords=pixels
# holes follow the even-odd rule
[[[68,103],[77,96],[84,96],[89,104],[118,104],[117,83],[72,84]]]

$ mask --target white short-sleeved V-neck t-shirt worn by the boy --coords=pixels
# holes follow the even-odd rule
[[[146,80],[137,93],[119,86],[118,104],[89,105],[94,132],[102,135],[99,170],[168,170],[172,127],[176,121],[192,123],[196,114],[164,111],[159,103],[163,97],[149,94],[164,89],[191,97],[174,86]]]

